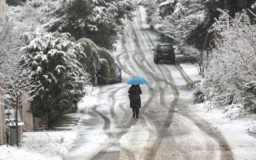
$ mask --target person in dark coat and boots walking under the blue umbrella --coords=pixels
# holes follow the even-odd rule
[[[130,98],[130,107],[132,108],[133,115],[132,117],[138,118],[140,107],[141,107],[141,101],[140,101],[140,94],[142,94],[142,91],[140,89],[140,85],[133,85],[128,90],[128,97]]]

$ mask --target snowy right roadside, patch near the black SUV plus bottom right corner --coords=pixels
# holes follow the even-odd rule
[[[180,65],[193,81],[202,80],[195,65]],[[230,109],[232,113],[223,113],[223,111],[218,109],[208,110],[208,102],[190,105],[190,109],[222,131],[232,147],[236,159],[255,159],[256,135],[250,134],[256,133],[255,117],[230,120],[231,115],[236,113],[236,107]]]

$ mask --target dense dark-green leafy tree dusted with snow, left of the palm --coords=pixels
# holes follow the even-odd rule
[[[31,110],[52,128],[86,94],[89,74],[82,64],[86,59],[82,45],[86,44],[71,42],[69,33],[33,32],[24,36],[31,41],[22,50],[29,53],[34,77],[44,87],[34,98]]]

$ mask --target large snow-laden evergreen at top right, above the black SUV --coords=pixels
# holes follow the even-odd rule
[[[220,15],[217,8],[230,10],[233,17],[255,0],[148,0],[148,23],[158,34],[180,45],[206,50],[213,39],[208,29]]]

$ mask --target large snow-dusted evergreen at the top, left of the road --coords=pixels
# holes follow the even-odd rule
[[[42,21],[49,31],[69,32],[114,50],[123,20],[132,20],[136,8],[134,0],[58,0]]]

